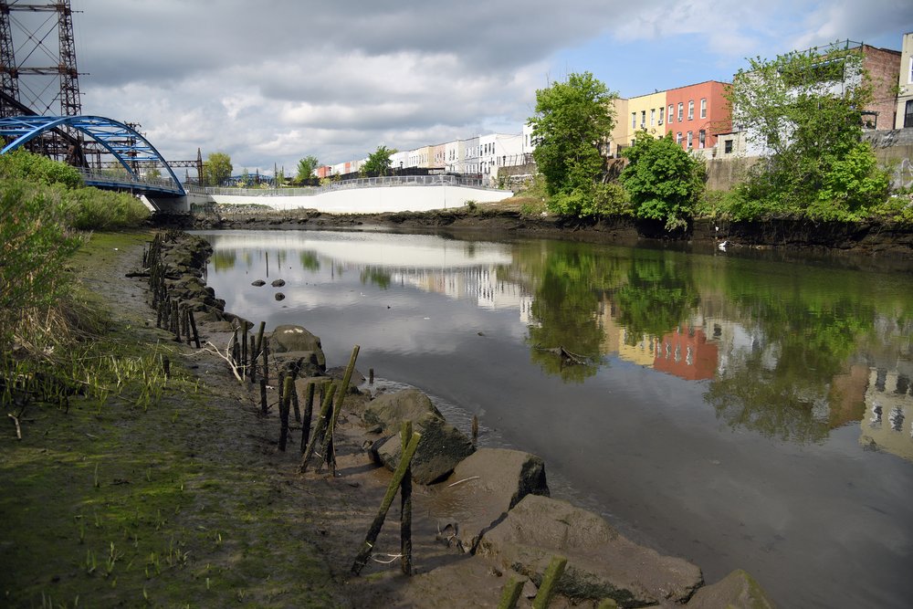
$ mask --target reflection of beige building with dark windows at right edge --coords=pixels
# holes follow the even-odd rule
[[[913,389],[905,374],[873,368],[859,443],[913,461]]]

